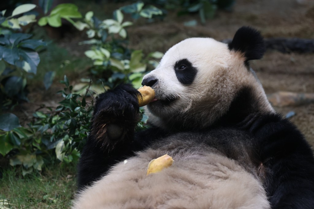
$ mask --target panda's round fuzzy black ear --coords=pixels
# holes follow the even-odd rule
[[[262,35],[256,29],[243,26],[237,30],[232,42],[228,44],[229,50],[241,51],[245,62],[259,60],[265,53],[265,43]]]

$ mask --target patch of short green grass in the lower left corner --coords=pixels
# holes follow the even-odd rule
[[[0,179],[0,201],[8,208],[70,208],[76,191],[76,165],[52,165],[24,178],[16,168],[8,168]],[[1,204],[0,204],[1,208]]]

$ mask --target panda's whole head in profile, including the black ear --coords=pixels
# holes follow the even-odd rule
[[[249,67],[262,58],[263,38],[240,28],[228,45],[212,38],[189,38],[171,47],[142,85],[155,90],[146,106],[149,122],[166,129],[202,129],[228,114],[232,102],[249,90],[250,111],[273,111]],[[241,110],[242,111],[242,110]]]

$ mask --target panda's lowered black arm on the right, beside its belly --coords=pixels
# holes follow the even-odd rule
[[[314,158],[300,131],[275,114],[256,116],[249,124],[272,208],[313,208]]]

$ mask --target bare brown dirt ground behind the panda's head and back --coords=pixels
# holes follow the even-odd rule
[[[104,12],[111,13],[112,8],[121,5],[103,4]],[[110,11],[111,10],[111,11]],[[198,25],[184,26],[184,22],[197,20]],[[178,18],[170,12],[163,21],[154,23],[139,21],[136,27],[130,27],[128,33],[133,49],[144,52],[165,52],[173,44],[189,37],[212,37],[217,40],[230,39],[236,30],[250,25],[261,31],[265,38],[286,37],[314,39],[314,1],[312,0],[238,0],[231,12],[218,11],[213,20],[200,24],[198,14]],[[78,46],[78,39],[65,37],[59,45],[77,56],[84,56],[83,46]],[[314,55],[282,54],[268,50],[262,60],[251,61],[267,94],[277,91],[314,93]],[[57,88],[57,87],[55,87]],[[49,92],[56,92],[52,88]],[[56,104],[51,97],[42,95],[38,100]],[[32,97],[32,95],[30,95]],[[275,107],[285,115],[295,112],[291,120],[314,145],[314,104],[298,107]]]

